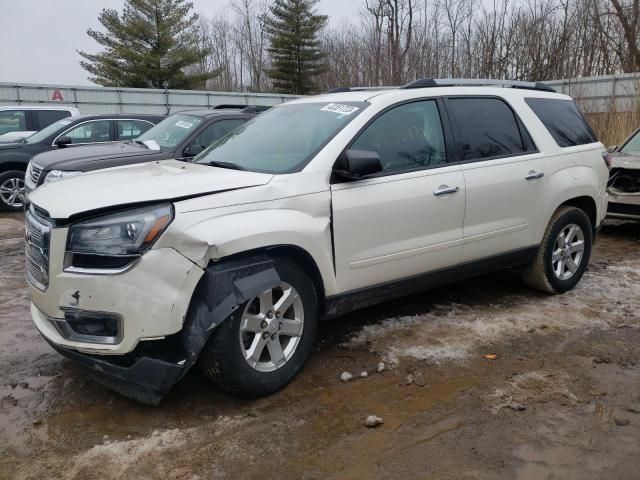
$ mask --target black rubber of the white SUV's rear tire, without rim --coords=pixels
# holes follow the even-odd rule
[[[554,273],[552,255],[558,235],[571,224],[578,225],[582,230],[584,251],[575,273],[563,280]],[[547,293],[564,293],[571,290],[587,269],[592,245],[593,228],[587,214],[576,207],[560,207],[551,217],[536,258],[523,270],[522,278],[530,287]]]

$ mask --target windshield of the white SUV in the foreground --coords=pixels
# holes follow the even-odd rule
[[[196,163],[232,163],[264,173],[299,171],[365,102],[285,104],[258,115],[211,145]]]

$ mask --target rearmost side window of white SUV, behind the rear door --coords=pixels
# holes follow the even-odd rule
[[[598,141],[572,100],[526,98],[525,101],[547,127],[559,147],[573,147]]]

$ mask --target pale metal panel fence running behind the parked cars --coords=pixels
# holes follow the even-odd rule
[[[586,113],[638,108],[640,73],[603,75],[544,82],[560,93],[574,97]],[[277,105],[297,98],[274,93],[156,90],[150,88],[107,88],[63,85],[36,85],[0,82],[0,105],[72,105],[82,113],[168,114],[216,105]]]

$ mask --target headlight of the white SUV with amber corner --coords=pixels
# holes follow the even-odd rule
[[[147,251],[173,219],[170,204],[136,208],[69,229],[65,268],[122,269]]]

